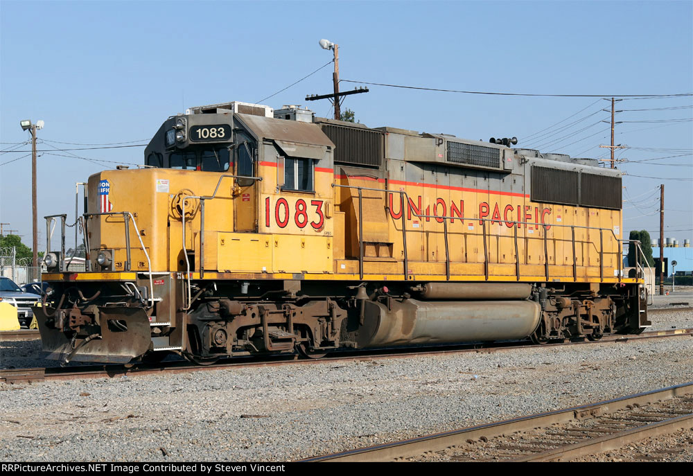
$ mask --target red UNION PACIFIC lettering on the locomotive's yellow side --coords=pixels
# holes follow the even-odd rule
[[[435,221],[442,223],[444,220],[449,220],[450,223],[456,223],[459,220],[464,224],[464,200],[452,200],[448,204],[444,199],[437,198],[435,204],[426,205],[423,208],[423,199],[421,195],[412,200],[412,197],[407,197],[406,204],[403,205],[405,199],[395,197],[394,193],[387,194],[389,214],[393,220],[401,220],[403,208],[406,208],[406,217],[408,221],[418,220],[419,215],[428,215],[421,220],[430,222],[433,218]],[[484,220],[491,220],[489,223],[505,224],[506,227],[523,227],[523,222],[532,223],[525,224],[525,227],[533,227],[538,229],[540,224],[545,224],[546,229],[550,229],[551,209],[540,209],[538,206],[523,205],[523,204],[499,204],[498,202],[480,202],[478,209],[478,217],[469,222],[479,220],[479,224],[483,224]],[[447,217],[447,218],[443,218]]]

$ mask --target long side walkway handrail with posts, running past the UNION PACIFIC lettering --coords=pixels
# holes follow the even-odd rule
[[[372,188],[372,187],[361,187],[361,186],[356,186],[356,185],[340,185],[340,184],[332,184],[333,187],[339,187],[339,188],[356,188],[358,191],[359,195],[359,204],[362,199],[362,191],[374,191],[374,192],[383,192],[383,193],[399,193],[400,194],[400,203],[402,205],[401,211],[402,211],[402,235],[404,237],[403,239],[403,246],[404,246],[404,254],[405,254],[405,267],[404,267],[404,277],[405,279],[408,279],[408,270],[407,270],[407,249],[406,249],[406,224],[405,224],[405,218],[404,218],[404,208],[403,208],[403,198],[406,197],[407,200],[410,200],[409,195],[403,190],[389,190],[387,188]],[[387,206],[386,206],[387,207]],[[458,217],[453,217],[453,216],[446,216],[446,215],[421,215],[419,213],[416,213],[412,211],[412,215],[416,216],[416,218],[435,218],[436,221],[438,219],[443,220],[443,225],[444,225],[444,240],[445,240],[445,245],[446,245],[446,276],[447,279],[450,279],[450,256],[448,253],[448,227],[447,227],[447,220],[463,220],[462,218]],[[547,250],[547,236],[546,236],[546,231],[549,227],[562,227],[562,228],[570,228],[572,229],[572,247],[573,247],[573,279],[577,280],[577,255],[575,253],[575,238],[574,238],[574,229],[577,226],[577,228],[580,229],[586,229],[586,230],[599,230],[599,276],[601,277],[602,281],[604,280],[604,231],[609,231],[611,232],[611,236],[613,236],[613,239],[615,243],[618,245],[618,249],[614,254],[617,255],[617,274],[618,274],[618,281],[620,282],[622,279],[622,270],[621,270],[621,259],[620,255],[621,253],[621,240],[616,236],[616,233],[614,233],[613,229],[611,228],[597,228],[597,227],[583,227],[579,225],[570,225],[570,224],[547,224],[547,223],[538,223],[538,222],[520,222],[520,221],[515,221],[515,220],[495,220],[493,218],[473,218],[471,220],[479,220],[482,222],[482,235],[483,235],[483,240],[484,240],[484,276],[486,277],[486,280],[489,279],[489,257],[488,257],[488,249],[486,248],[486,222],[497,222],[498,224],[524,224],[524,225],[534,225],[536,227],[543,227],[544,228],[544,236],[543,236],[543,242],[544,242],[544,268],[545,268],[545,274],[546,274],[546,279],[550,279],[550,273],[549,273],[549,262],[548,262],[548,250]],[[358,226],[359,226],[359,237],[360,237],[360,256],[359,256],[359,276],[360,279],[363,279],[363,240],[362,240],[362,211],[361,207],[359,206],[359,217],[358,217]],[[515,248],[516,248],[516,253],[515,253],[515,261],[516,261],[516,276],[518,281],[520,280],[520,266],[519,266],[519,261],[520,261],[520,256],[518,255],[518,248],[517,248],[517,227],[514,227],[515,233],[514,233],[514,240],[515,240]],[[527,238],[525,238],[527,239]]]

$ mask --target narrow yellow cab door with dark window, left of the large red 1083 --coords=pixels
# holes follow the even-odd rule
[[[244,132],[236,134],[234,148],[236,175],[258,177],[258,153],[254,139]],[[258,181],[238,178],[234,185],[234,231],[257,232]]]

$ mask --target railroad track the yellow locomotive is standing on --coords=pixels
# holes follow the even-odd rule
[[[693,328],[659,330],[640,335],[610,335],[603,337],[602,340],[591,342],[588,340],[581,342],[562,342],[555,344],[526,344],[524,342],[499,342],[496,344],[464,344],[457,346],[437,346],[425,349],[418,348],[398,348],[398,349],[374,349],[367,351],[344,351],[335,352],[322,359],[299,360],[297,355],[274,355],[267,357],[253,358],[234,358],[224,360],[217,364],[200,366],[189,364],[184,360],[163,362],[162,364],[147,365],[121,365],[121,364],[98,364],[98,365],[74,365],[70,367],[41,367],[33,369],[2,369],[0,370],[0,382],[19,383],[19,382],[44,382],[46,380],[75,380],[86,378],[112,378],[128,375],[151,375],[161,373],[184,373],[195,371],[225,370],[238,367],[262,367],[286,364],[330,364],[349,360],[379,360],[383,358],[416,358],[423,355],[453,354],[464,352],[498,352],[513,349],[531,349],[533,347],[552,347],[577,344],[598,344],[600,342],[629,342],[633,340],[655,339],[662,337],[691,337]]]

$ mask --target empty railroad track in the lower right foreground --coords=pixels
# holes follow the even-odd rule
[[[304,461],[568,461],[692,427],[687,382]]]

